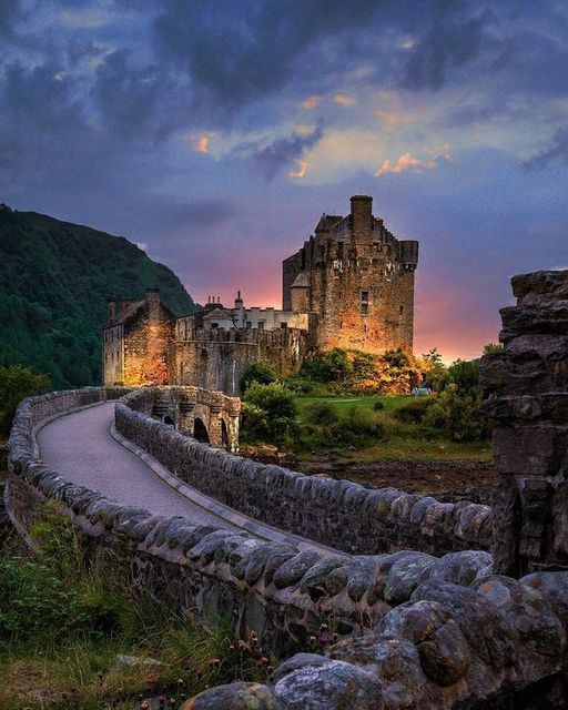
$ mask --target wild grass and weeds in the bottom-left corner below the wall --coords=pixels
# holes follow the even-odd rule
[[[240,641],[225,619],[197,625],[135,595],[115,557],[85,568],[53,506],[34,536],[38,557],[16,541],[0,552],[0,710],[132,710],[159,694],[178,707],[206,687],[267,677],[253,632]]]

